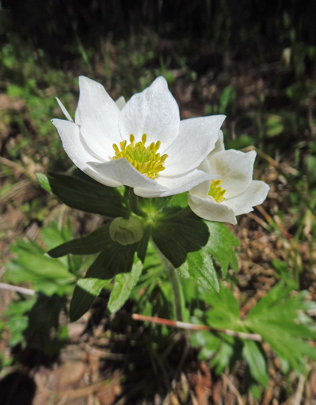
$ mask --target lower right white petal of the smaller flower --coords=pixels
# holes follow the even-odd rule
[[[252,207],[261,204],[269,191],[269,186],[260,180],[252,180],[246,191],[235,198],[225,199],[222,204],[232,208],[235,215],[247,214]]]

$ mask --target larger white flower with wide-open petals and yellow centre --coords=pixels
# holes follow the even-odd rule
[[[163,77],[127,103],[123,98],[115,103],[102,85],[84,76],[79,88],[75,121],[58,100],[68,120],[52,122],[84,173],[111,187],[133,187],[143,197],[182,193],[212,178],[198,166],[214,148],[224,115],[180,121]]]

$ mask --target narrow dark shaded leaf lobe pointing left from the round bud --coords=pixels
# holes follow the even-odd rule
[[[61,257],[72,253],[73,255],[90,255],[104,250],[108,245],[113,244],[109,233],[110,224],[106,224],[89,233],[72,239],[63,245],[50,250],[48,254],[51,257]]]

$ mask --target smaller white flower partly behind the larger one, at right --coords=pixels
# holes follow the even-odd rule
[[[253,211],[252,207],[261,204],[269,191],[263,181],[252,180],[255,157],[254,150],[224,150],[220,131],[215,148],[203,162],[203,170],[219,179],[207,180],[190,191],[191,210],[206,220],[231,224],[237,223],[236,215]]]

